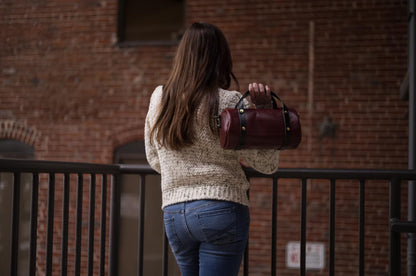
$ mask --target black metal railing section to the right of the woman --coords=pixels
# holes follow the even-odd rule
[[[280,169],[273,176],[263,175],[255,171],[247,171],[249,177],[272,177],[273,179],[273,209],[272,209],[272,248],[271,248],[271,275],[276,275],[276,234],[277,228],[277,180],[300,179],[301,180],[301,235],[300,235],[300,275],[306,273],[306,202],[307,180],[327,179],[329,187],[329,275],[335,275],[335,189],[337,180],[356,180],[359,185],[359,260],[358,275],[365,275],[365,183],[368,180],[389,181],[389,206],[390,206],[390,249],[389,249],[389,275],[401,275],[401,233],[415,233],[416,222],[400,220],[401,210],[401,182],[414,180],[415,170],[336,170],[336,169]],[[246,274],[247,275],[247,274]]]

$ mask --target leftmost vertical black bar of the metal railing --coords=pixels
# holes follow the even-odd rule
[[[10,275],[17,275],[19,251],[20,173],[14,173],[12,194],[12,229],[10,237]]]

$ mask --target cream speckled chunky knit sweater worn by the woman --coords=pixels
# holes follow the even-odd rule
[[[237,91],[219,89],[219,113],[234,108],[241,97]],[[150,99],[145,123],[146,157],[162,176],[162,209],[165,206],[198,199],[233,201],[248,205],[249,182],[240,160],[254,169],[271,174],[277,170],[277,150],[224,150],[209,125],[196,126],[196,141],[181,150],[170,150],[150,142],[149,133],[158,114],[162,86]],[[248,102],[245,101],[248,105]],[[197,117],[202,116],[198,113]]]

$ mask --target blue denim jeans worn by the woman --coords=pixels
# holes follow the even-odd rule
[[[163,211],[166,235],[182,276],[238,275],[250,224],[247,206],[197,200]]]

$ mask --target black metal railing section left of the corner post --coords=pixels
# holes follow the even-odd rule
[[[117,165],[96,165],[68,162],[50,161],[26,161],[26,160],[5,160],[0,159],[0,173],[13,173],[12,189],[12,221],[11,221],[11,245],[10,245],[10,275],[18,274],[18,247],[19,247],[19,206],[20,206],[20,178],[23,173],[32,174],[32,194],[30,210],[30,245],[29,245],[29,275],[36,275],[36,254],[38,238],[38,203],[39,203],[39,183],[40,174],[48,177],[47,195],[47,226],[46,226],[46,258],[45,274],[52,275],[53,266],[53,245],[54,245],[54,216],[55,216],[55,184],[56,175],[63,175],[63,195],[62,195],[62,240],[61,240],[61,275],[67,275],[68,271],[68,218],[69,218],[69,188],[70,176],[77,176],[77,203],[76,203],[76,237],[75,237],[75,275],[80,275],[81,271],[81,227],[82,227],[82,202],[84,175],[90,176],[90,200],[89,200],[89,219],[88,219],[88,275],[93,275],[94,257],[94,221],[95,221],[95,189],[96,176],[101,179],[101,218],[100,218],[100,255],[99,255],[99,275],[104,275],[105,249],[106,249],[106,224],[107,224],[107,175],[117,175],[120,172]],[[110,217],[111,219],[111,217]],[[111,225],[111,223],[110,223]]]

